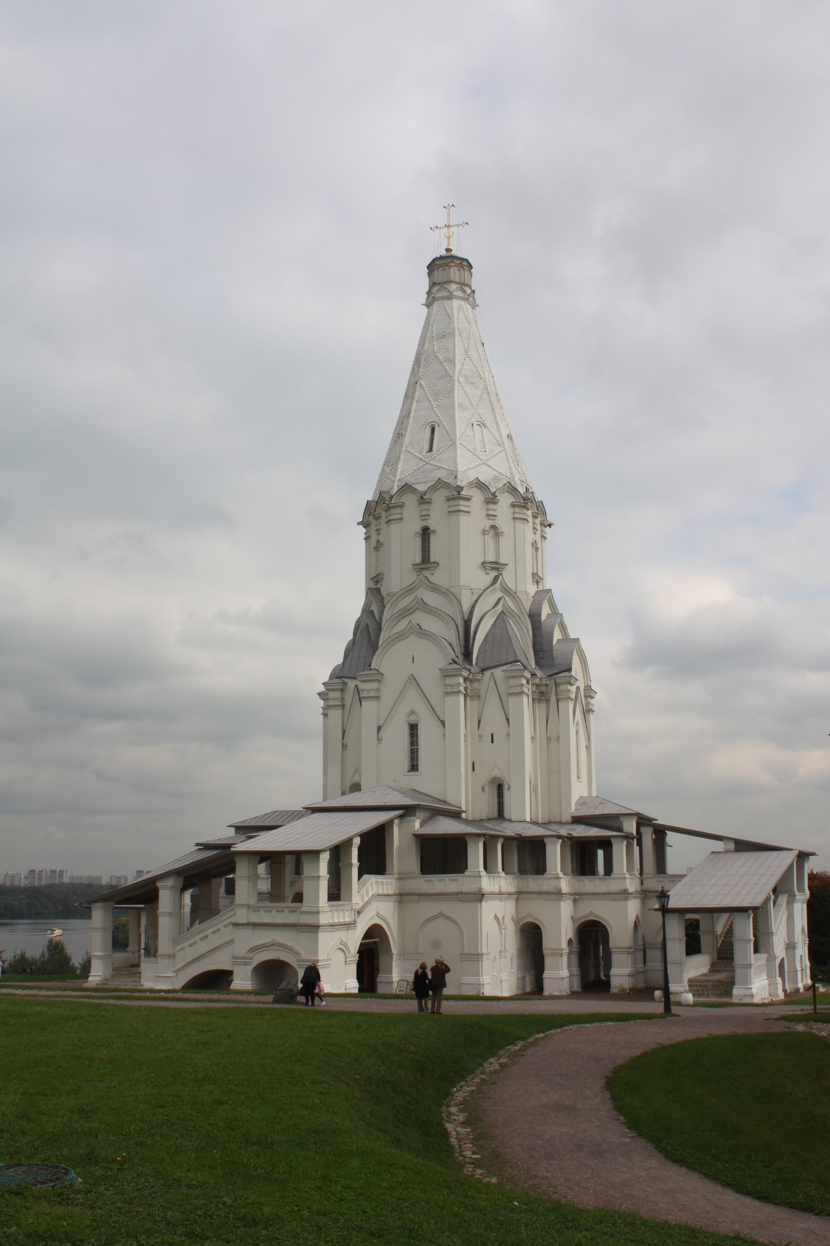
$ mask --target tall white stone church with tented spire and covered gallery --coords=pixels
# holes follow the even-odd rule
[[[809,854],[597,795],[587,657],[449,240],[363,510],[362,607],[319,694],[322,800],[95,900],[90,984],[271,989],[314,961],[330,992],[394,993],[441,953],[450,994],[661,987],[666,888],[672,996],[800,991]],[[677,835],[716,851],[672,873]]]

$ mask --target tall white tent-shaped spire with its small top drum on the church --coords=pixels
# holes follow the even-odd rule
[[[427,315],[373,496],[407,483],[424,490],[437,480],[530,491],[475,319],[473,265],[444,254],[427,273]]]

